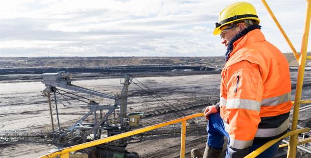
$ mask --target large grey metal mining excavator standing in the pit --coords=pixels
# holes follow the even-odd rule
[[[72,84],[72,75],[65,72],[58,73],[46,73],[42,74],[43,80],[42,82],[45,84],[46,88],[43,90],[46,96],[48,96],[48,103],[50,108],[50,118],[52,124],[52,132],[49,132],[48,136],[53,138],[54,144],[63,144],[63,145],[74,145],[85,143],[91,140],[97,140],[103,137],[109,137],[113,135],[117,135],[120,133],[124,133],[130,130],[130,121],[135,122],[135,119],[129,120],[127,117],[127,96],[128,96],[128,86],[129,75],[126,75],[124,81],[122,82],[123,88],[121,90],[120,95],[113,96],[110,94],[105,94],[102,92],[98,92],[92,89],[80,87]],[[66,90],[70,90],[71,92],[67,92]],[[112,105],[99,105],[93,100],[90,100],[83,96],[78,96],[79,98],[84,98],[89,100],[87,107],[89,111],[80,119],[78,119],[70,128],[63,129],[61,128],[60,119],[59,119],[59,110],[57,108],[57,97],[56,94],[66,95],[67,92],[70,94],[74,94],[72,92],[79,92],[82,94],[92,95],[100,98],[107,98],[110,100],[114,100],[114,104]],[[53,93],[54,96],[54,105],[56,108],[56,117],[57,117],[57,129],[54,129],[53,123],[53,114],[51,108],[51,99],[50,93]],[[69,96],[69,95],[67,95]],[[105,114],[102,111],[107,111]],[[99,111],[99,120],[97,120],[97,111]],[[116,113],[116,111],[119,111]],[[114,121],[111,123],[108,121],[108,117],[114,114]],[[118,118],[116,118],[116,114],[118,114]],[[86,119],[93,115],[94,122],[87,122]],[[137,115],[137,114],[136,114]],[[142,114],[141,114],[142,115]],[[133,116],[133,114],[130,114]],[[133,117],[134,118],[134,117]],[[126,142],[129,138],[119,139],[107,144],[96,146],[96,153],[100,153],[101,156],[105,157],[114,157],[114,155],[126,155],[128,158],[136,158],[136,153],[126,152]],[[91,150],[92,152],[95,149]],[[90,151],[89,151],[90,152]],[[91,153],[92,153],[91,152]]]

